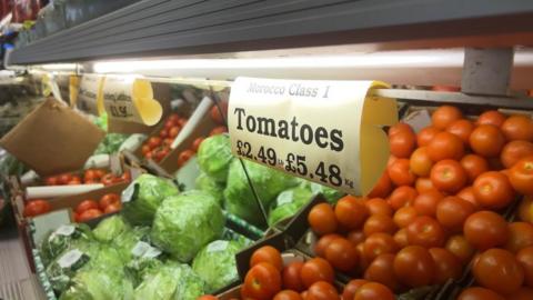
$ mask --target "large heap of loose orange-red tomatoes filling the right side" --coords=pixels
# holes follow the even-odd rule
[[[532,201],[521,200],[520,222],[499,213],[533,194],[531,118],[486,111],[472,121],[444,106],[419,133],[399,123],[389,140],[386,171],[368,198],[311,210],[315,253],[395,292],[459,279],[473,261],[482,288],[459,299],[533,299]]]

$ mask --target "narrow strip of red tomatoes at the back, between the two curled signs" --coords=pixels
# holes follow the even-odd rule
[[[178,133],[187,123],[185,118],[181,118],[178,113],[172,113],[167,118],[163,129],[159,131],[158,137],[148,139],[141,148],[142,156],[145,159],[161,161],[170,152],[170,146],[174,141]]]

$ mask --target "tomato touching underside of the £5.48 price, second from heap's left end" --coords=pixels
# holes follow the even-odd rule
[[[334,211],[339,224],[348,230],[360,228],[369,217],[369,209],[364,202],[353,196],[341,198]]]

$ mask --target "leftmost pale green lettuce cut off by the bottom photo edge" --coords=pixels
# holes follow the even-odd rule
[[[83,270],[76,274],[70,288],[59,299],[130,300],[133,299],[133,286],[120,270]]]

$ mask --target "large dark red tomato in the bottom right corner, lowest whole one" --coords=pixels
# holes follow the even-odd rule
[[[515,292],[524,282],[524,271],[514,256],[502,249],[481,253],[472,273],[480,286],[502,294]]]

